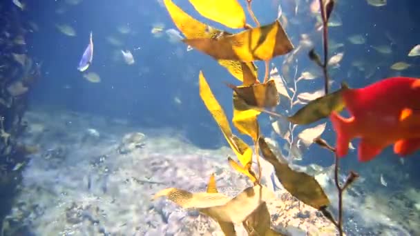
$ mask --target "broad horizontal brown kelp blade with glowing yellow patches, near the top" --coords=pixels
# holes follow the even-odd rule
[[[216,39],[187,38],[182,41],[215,59],[243,62],[268,61],[294,48],[279,21],[236,35],[221,35]]]

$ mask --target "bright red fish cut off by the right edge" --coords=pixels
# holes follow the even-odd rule
[[[365,88],[343,91],[352,115],[330,115],[336,131],[336,154],[347,154],[349,142],[360,137],[359,161],[370,161],[394,144],[394,153],[410,155],[420,148],[420,79],[392,77]]]

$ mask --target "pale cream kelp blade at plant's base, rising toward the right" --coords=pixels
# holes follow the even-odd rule
[[[266,201],[274,199],[274,193],[265,186],[256,185],[246,188],[242,193],[233,197],[223,206],[213,206],[200,209],[200,212],[209,215],[209,217],[218,220],[218,222],[231,222],[240,224],[247,219]]]

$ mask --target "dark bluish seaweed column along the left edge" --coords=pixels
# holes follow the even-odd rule
[[[28,21],[21,17],[13,4],[0,3],[0,222],[3,234],[13,197],[21,182],[21,172],[28,155],[36,147],[20,144],[18,139],[26,128],[22,121],[28,107],[28,91],[40,76],[40,64],[27,55],[26,39],[31,32]]]

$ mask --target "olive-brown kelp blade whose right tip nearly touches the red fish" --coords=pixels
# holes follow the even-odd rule
[[[342,94],[347,89],[343,84],[341,89],[310,101],[287,119],[293,124],[307,125],[328,117],[333,111],[340,112],[345,107]]]

